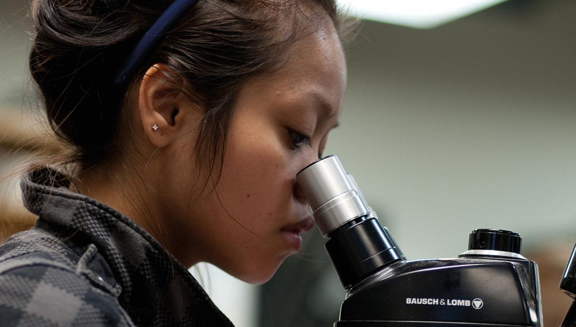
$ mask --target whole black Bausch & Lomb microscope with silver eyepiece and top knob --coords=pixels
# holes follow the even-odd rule
[[[347,291],[335,327],[541,326],[538,268],[518,233],[475,229],[457,258],[407,260],[338,157],[296,182]]]

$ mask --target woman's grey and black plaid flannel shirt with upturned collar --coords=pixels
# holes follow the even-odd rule
[[[1,326],[232,326],[150,234],[67,186],[51,168],[22,178],[39,219],[0,245]]]

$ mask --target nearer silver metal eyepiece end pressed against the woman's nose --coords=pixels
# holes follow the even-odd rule
[[[312,208],[316,225],[324,237],[355,218],[370,213],[336,156],[328,156],[304,168],[296,182]]]

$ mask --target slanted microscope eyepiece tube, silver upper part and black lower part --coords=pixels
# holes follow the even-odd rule
[[[296,175],[296,182],[310,203],[320,232],[329,238],[325,248],[344,288],[405,259],[338,157],[310,164]]]

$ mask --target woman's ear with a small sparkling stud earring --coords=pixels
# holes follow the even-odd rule
[[[140,84],[138,109],[147,139],[158,148],[168,147],[186,126],[196,124],[202,113],[180,90],[168,83],[169,68],[163,64],[150,67]]]

